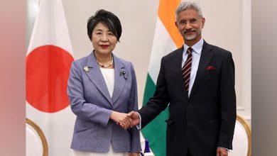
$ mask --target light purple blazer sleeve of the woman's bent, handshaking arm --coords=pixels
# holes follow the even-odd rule
[[[84,98],[84,89],[82,83],[82,70],[76,62],[72,62],[70,77],[67,83],[67,95],[70,98],[70,107],[79,118],[85,121],[99,123],[107,126],[112,110],[99,107],[95,104],[89,104]]]

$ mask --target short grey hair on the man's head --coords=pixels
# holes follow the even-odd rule
[[[202,10],[199,4],[195,2],[190,2],[190,1],[182,1],[175,11],[176,21],[178,19],[179,13],[187,9],[195,9],[198,12],[198,15],[200,16],[200,18],[203,17]]]

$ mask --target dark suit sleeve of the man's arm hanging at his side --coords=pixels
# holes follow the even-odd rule
[[[221,128],[217,147],[232,150],[234,126],[237,118],[234,89],[234,61],[231,52],[224,58],[220,76]]]

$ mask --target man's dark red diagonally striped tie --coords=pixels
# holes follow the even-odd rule
[[[188,58],[185,61],[185,65],[182,68],[182,74],[185,82],[185,90],[188,93],[188,88],[190,84],[190,71],[191,71],[191,65],[192,65],[192,48],[188,48],[187,53],[188,53]]]

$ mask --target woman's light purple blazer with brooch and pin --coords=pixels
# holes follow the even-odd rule
[[[109,95],[94,52],[72,62],[67,94],[77,116],[71,148],[90,152],[140,152],[139,130],[124,130],[109,119],[112,111],[138,110],[136,74],[131,62],[114,56],[114,92]],[[84,69],[86,68],[86,69]]]

